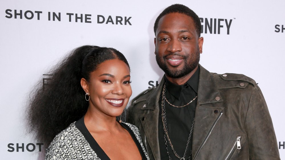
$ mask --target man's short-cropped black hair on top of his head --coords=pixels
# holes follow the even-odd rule
[[[160,15],[156,18],[155,22],[154,22],[154,34],[157,30],[158,27],[158,22],[161,19],[161,17],[163,17],[164,15],[167,15],[169,13],[182,13],[185,15],[188,15],[189,17],[191,17],[194,21],[194,26],[196,28],[196,32],[198,34],[198,36],[201,36],[201,21],[199,19],[199,17],[196,15],[196,13],[194,11],[192,11],[192,9],[186,7],[185,5],[181,5],[181,4],[174,4],[171,5],[169,7],[167,7],[166,9],[164,9]]]

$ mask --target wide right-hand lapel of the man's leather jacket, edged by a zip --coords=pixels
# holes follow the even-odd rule
[[[199,153],[214,122],[223,110],[223,99],[212,74],[200,64],[198,100],[192,141],[192,159]],[[199,158],[198,158],[199,159]]]

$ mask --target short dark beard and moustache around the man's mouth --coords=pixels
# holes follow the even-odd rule
[[[168,54],[169,56],[171,54]],[[186,56],[182,56],[180,54],[174,53],[173,55],[178,55],[183,58],[184,67],[182,69],[177,69],[175,66],[172,69],[169,69],[166,65],[166,57],[163,56],[160,58],[158,54],[155,55],[156,63],[158,66],[164,71],[166,75],[168,75],[171,78],[181,78],[185,75],[188,75],[191,73],[198,65],[200,61],[200,52],[197,50],[194,54],[188,54]],[[191,56],[191,57],[190,57]]]

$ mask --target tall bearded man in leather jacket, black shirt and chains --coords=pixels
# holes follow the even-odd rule
[[[199,17],[184,5],[154,24],[158,87],[132,100],[127,121],[139,127],[151,159],[280,159],[272,120],[255,81],[210,73],[199,64]]]

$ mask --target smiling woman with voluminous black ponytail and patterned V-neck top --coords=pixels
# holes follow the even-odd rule
[[[116,121],[132,95],[123,54],[82,46],[51,74],[28,110],[31,131],[50,144],[45,159],[149,159],[138,128]]]

